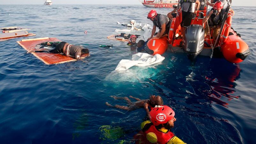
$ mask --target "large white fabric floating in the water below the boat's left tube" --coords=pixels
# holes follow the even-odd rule
[[[161,56],[160,54],[150,55],[147,53],[137,53],[132,55],[132,60],[121,60],[115,68],[115,71],[127,70],[132,66],[149,66],[152,64],[162,62],[164,59],[165,57]]]

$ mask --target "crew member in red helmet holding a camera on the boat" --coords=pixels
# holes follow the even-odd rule
[[[209,29],[214,29],[212,37],[214,40],[216,40],[223,21],[222,18],[224,13],[225,11],[223,10],[223,3],[221,1],[215,2],[213,8],[206,13],[206,17],[204,17],[202,20],[203,24],[205,24],[205,36],[209,33]]]

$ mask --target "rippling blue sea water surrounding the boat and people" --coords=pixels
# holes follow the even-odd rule
[[[0,27],[21,26],[90,50],[86,61],[46,65],[16,43],[0,42],[0,143],[133,143],[143,109],[109,108],[109,97],[160,95],[175,111],[172,131],[187,143],[254,143],[256,138],[255,7],[233,7],[232,27],[251,54],[239,64],[166,52],[154,67],[113,73],[135,52],[106,39],[116,21],[146,22],[142,5],[0,5]],[[166,14],[171,9],[157,9]],[[85,34],[84,31],[88,33]],[[136,34],[143,34],[138,32]],[[113,44],[101,48],[100,44]],[[106,131],[110,130],[110,134]]]

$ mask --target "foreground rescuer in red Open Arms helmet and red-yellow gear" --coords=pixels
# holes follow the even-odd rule
[[[176,121],[175,112],[167,105],[156,105],[150,111],[150,120],[142,123],[142,132],[135,135],[141,143],[185,144],[170,129]]]

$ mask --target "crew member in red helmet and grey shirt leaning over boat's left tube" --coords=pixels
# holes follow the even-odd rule
[[[157,32],[156,35],[157,38],[168,37],[169,29],[172,22],[170,18],[168,18],[166,15],[157,14],[156,10],[149,11],[147,18],[150,19],[154,24],[151,37],[148,38],[148,40],[153,38],[156,32],[156,27],[159,28],[159,32]]]

